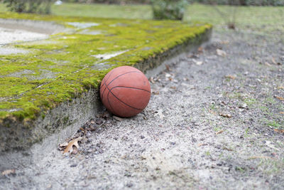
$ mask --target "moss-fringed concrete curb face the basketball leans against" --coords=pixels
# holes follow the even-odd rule
[[[116,59],[114,61],[119,64],[114,65],[114,67],[133,65],[146,73],[147,70],[157,68],[165,60],[177,57],[182,52],[192,51],[203,42],[208,41],[211,33],[212,27],[207,25],[194,36],[182,38],[181,41],[175,42],[174,46],[171,43],[170,46],[163,48],[163,51],[155,51],[154,54],[149,53],[148,56],[143,54],[142,58],[131,63],[123,63]],[[104,70],[104,73],[107,73],[110,69]],[[104,73],[100,73],[100,78]],[[86,86],[86,84],[83,83],[82,86]],[[32,144],[41,142],[50,134],[60,134],[58,138],[70,136],[86,120],[102,110],[97,86],[98,84],[88,85],[75,97],[67,98],[48,110],[41,110],[32,119],[19,120],[17,117],[10,117],[9,115],[4,117],[0,122],[0,152],[12,149],[28,149]]]

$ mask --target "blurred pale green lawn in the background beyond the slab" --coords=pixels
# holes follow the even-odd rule
[[[216,8],[224,14],[221,16]],[[284,31],[284,6],[212,6],[191,4],[187,8],[184,21],[204,21],[217,28],[224,26],[226,20],[233,20],[236,10],[236,28],[263,33]],[[7,11],[0,4],[0,11]],[[101,18],[152,19],[149,5],[107,5],[107,4],[62,4],[52,6],[52,14],[58,16],[91,16]]]

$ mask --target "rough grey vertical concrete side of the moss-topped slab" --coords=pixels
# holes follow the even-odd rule
[[[202,43],[209,41],[212,35],[212,28],[196,38],[190,39],[174,48],[161,53],[155,58],[144,60],[137,63],[136,68],[146,73],[147,77],[157,75],[165,68],[165,65],[176,63],[185,58],[185,52],[194,51]],[[94,115],[97,115],[103,109],[99,100],[97,89],[91,89],[83,93],[80,97],[70,102],[65,102],[55,107],[53,110],[45,113],[45,117],[38,117],[37,120],[30,123],[31,127],[26,127],[23,123],[19,124],[13,121],[13,127],[0,127],[0,154],[28,150],[34,144],[44,147],[45,151],[54,149],[62,139],[72,136],[78,128]],[[9,121],[11,122],[11,121]],[[7,130],[8,129],[8,130]],[[4,154],[0,155],[0,163],[5,163]],[[1,167],[0,167],[1,169]]]

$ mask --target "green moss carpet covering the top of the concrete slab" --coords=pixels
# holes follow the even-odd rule
[[[5,19],[55,21],[72,32],[38,43],[10,45],[30,53],[0,56],[0,122],[6,117],[35,119],[40,112],[98,88],[104,75],[120,65],[135,65],[170,48],[195,41],[212,26],[178,21],[94,19],[0,13]],[[99,23],[75,28],[69,22]],[[102,31],[98,35],[86,31]],[[123,52],[107,60],[96,55]],[[97,69],[97,65],[103,66]],[[42,115],[42,117],[44,117]]]

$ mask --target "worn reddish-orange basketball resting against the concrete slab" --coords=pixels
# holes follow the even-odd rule
[[[119,117],[132,117],[148,105],[151,86],[140,70],[121,66],[104,76],[99,94],[109,112]]]

